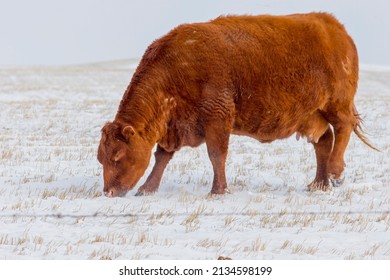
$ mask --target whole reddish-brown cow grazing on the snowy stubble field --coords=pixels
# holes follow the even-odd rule
[[[146,50],[113,122],[102,128],[104,193],[123,196],[156,163],[138,195],[157,191],[183,146],[206,143],[212,194],[227,192],[230,134],[271,142],[297,133],[314,145],[312,189],[341,183],[351,132],[367,145],[354,106],[358,55],[326,13],[224,16],[184,24]],[[372,147],[372,146],[371,146]]]

